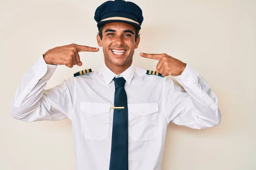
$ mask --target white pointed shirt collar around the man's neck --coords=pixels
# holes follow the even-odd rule
[[[117,76],[117,74],[113,73],[105,64],[102,68],[99,69],[102,72],[103,78],[105,80],[106,85],[108,86],[114,77]],[[134,76],[135,72],[135,65],[132,63],[129,68],[127,68],[124,72],[122,72],[121,75],[125,81],[130,85],[131,80]]]

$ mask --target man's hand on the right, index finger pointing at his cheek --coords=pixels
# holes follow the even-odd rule
[[[149,59],[157,59],[159,62],[157,64],[157,72],[162,74],[163,77],[179,76],[186,68],[186,63],[175,59],[167,54],[145,54],[140,53],[141,57]]]

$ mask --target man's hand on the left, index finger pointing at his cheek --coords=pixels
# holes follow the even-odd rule
[[[44,60],[47,64],[66,65],[69,68],[72,68],[74,65],[81,66],[82,62],[78,54],[81,51],[97,52],[99,48],[77,44],[64,45],[48,50],[44,54]]]

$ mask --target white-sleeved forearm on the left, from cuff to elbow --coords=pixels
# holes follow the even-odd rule
[[[38,114],[44,88],[57,66],[47,65],[40,57],[38,62],[24,74],[11,104],[11,114],[16,119],[25,119],[29,114]],[[37,112],[37,113],[36,113]]]

